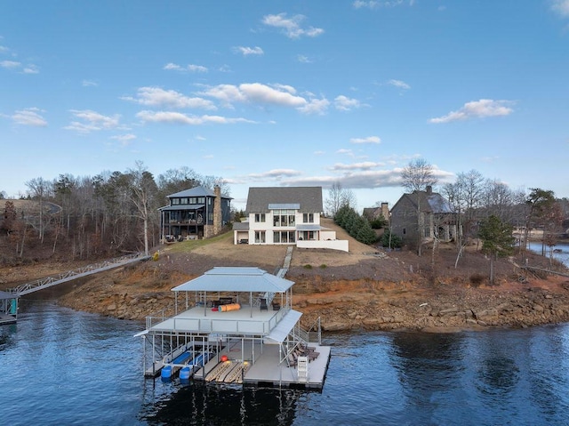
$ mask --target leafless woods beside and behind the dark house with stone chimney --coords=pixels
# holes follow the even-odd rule
[[[220,177],[182,166],[155,178],[141,162],[124,172],[32,179],[20,199],[35,202],[33,213],[22,211],[13,201],[4,202],[0,244],[8,250],[2,251],[3,261],[23,258],[32,248],[34,253],[59,253],[77,260],[148,253],[158,242],[156,210],[167,205],[168,195],[200,185],[210,189],[219,185],[228,194]]]

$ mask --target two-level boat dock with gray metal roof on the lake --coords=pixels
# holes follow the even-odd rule
[[[174,287],[176,314],[147,317],[136,334],[145,376],[322,390],[331,348],[319,320],[301,328],[293,284],[262,269],[214,268]]]

